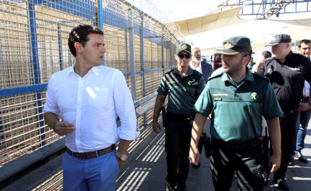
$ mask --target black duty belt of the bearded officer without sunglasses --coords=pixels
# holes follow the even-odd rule
[[[212,138],[212,146],[224,147],[228,149],[243,149],[258,146],[262,144],[262,138],[254,138],[246,142],[225,142]]]

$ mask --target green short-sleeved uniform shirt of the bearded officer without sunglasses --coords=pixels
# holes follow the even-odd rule
[[[262,116],[283,116],[268,79],[247,69],[245,80],[235,85],[226,73],[209,78],[194,105],[208,116],[212,110],[211,137],[222,141],[244,142],[262,134]]]

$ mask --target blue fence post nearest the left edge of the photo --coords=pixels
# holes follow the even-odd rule
[[[40,84],[40,67],[38,59],[38,44],[37,44],[37,31],[36,31],[36,21],[35,21],[35,10],[34,3],[28,1],[28,13],[29,13],[29,23],[30,23],[30,39],[31,39],[31,50],[32,50],[32,62],[33,62],[33,71],[34,71],[34,83]],[[36,94],[37,96],[37,105],[38,105],[38,117],[39,117],[39,126],[41,134],[41,144],[42,146],[46,144],[45,142],[45,129],[43,121],[43,110],[42,110],[42,95],[41,92]]]

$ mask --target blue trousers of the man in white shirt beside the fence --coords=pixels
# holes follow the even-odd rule
[[[64,191],[115,191],[119,165],[116,150],[91,159],[64,153]]]

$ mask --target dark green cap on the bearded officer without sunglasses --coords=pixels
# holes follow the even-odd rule
[[[222,43],[222,49],[217,51],[222,55],[237,55],[241,52],[251,52],[251,41],[244,36],[232,37]]]

